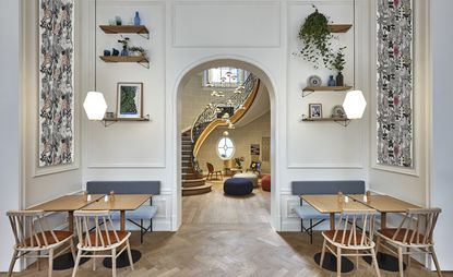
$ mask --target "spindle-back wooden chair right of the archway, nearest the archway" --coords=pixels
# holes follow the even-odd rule
[[[374,252],[374,209],[344,209],[335,230],[323,231],[324,243],[320,266],[324,262],[325,249],[336,256],[336,276],[342,276],[342,256],[356,256],[358,267],[359,256],[371,256],[375,274],[381,276]],[[361,229],[357,230],[358,224]]]

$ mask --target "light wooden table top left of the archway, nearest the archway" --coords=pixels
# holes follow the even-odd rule
[[[148,201],[153,195],[151,194],[115,194],[109,196],[106,202],[102,198],[85,207],[83,210],[133,210],[138,209],[143,203]]]

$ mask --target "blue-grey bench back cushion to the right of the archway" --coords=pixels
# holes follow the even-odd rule
[[[307,194],[363,194],[365,181],[293,181],[291,191],[294,195]]]

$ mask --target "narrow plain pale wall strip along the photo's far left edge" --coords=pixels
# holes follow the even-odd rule
[[[22,112],[21,89],[21,1],[0,2],[0,52],[2,67],[0,82],[0,124],[3,127],[0,136],[1,192],[0,193],[0,272],[8,270],[12,255],[14,237],[7,220],[5,213],[21,207],[21,144],[22,144]],[[17,263],[19,264],[19,263]],[[17,268],[17,265],[16,265]]]

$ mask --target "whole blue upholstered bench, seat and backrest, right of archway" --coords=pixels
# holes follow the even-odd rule
[[[362,194],[365,193],[365,181],[293,181],[293,195],[308,195],[308,194],[336,194],[338,192],[344,194]],[[295,208],[296,214],[300,217],[300,230],[310,234],[310,243],[313,243],[313,228],[329,219],[327,214],[321,214],[312,206],[305,204],[300,197],[300,206]],[[310,220],[310,227],[303,226],[303,220]],[[313,220],[317,220],[313,225]]]

